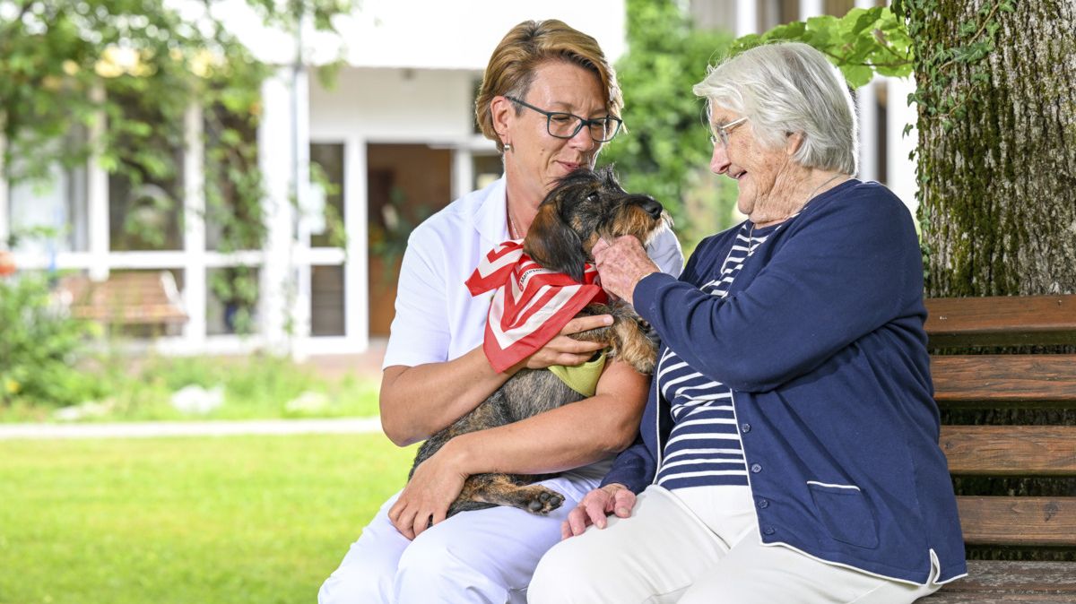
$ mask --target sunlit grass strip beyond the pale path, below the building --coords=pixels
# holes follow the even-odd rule
[[[94,401],[99,413],[81,421],[152,421],[185,419],[278,419],[298,417],[369,417],[378,415],[380,383],[348,375],[320,376],[288,359],[250,357],[105,356],[82,366],[93,376],[91,390],[79,400]],[[223,404],[204,414],[182,413],[171,404],[187,386],[220,387]],[[311,398],[311,394],[313,398]],[[297,404],[306,399],[313,404]],[[16,399],[0,402],[0,422],[49,421],[55,405]]]

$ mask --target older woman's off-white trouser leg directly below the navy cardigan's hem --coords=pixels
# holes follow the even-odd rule
[[[756,534],[749,534],[679,604],[911,604],[938,587],[826,564],[788,547],[762,545]]]

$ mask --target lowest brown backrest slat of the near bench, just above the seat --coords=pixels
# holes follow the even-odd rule
[[[1076,498],[958,497],[964,543],[1076,545]]]

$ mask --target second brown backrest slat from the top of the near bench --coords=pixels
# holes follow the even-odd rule
[[[931,357],[934,399],[961,407],[1063,406],[1076,402],[1076,355]]]

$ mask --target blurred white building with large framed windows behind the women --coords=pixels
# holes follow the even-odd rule
[[[699,25],[742,34],[874,2],[684,4]],[[521,20],[556,17],[594,35],[615,60],[625,51],[625,11],[623,0],[363,0],[360,6],[339,24],[343,47],[313,34],[297,40],[250,27],[245,24],[257,19],[242,0],[224,9],[226,20],[244,24],[237,28],[244,42],[280,66],[263,87],[259,131],[250,133],[257,136],[266,178],[264,249],[220,250],[220,233],[206,219],[200,192],[204,116],[194,106],[185,124],[187,146],[176,149],[182,170],[175,182],[130,187],[93,160],[82,169],[57,168],[52,187],[0,182],[0,240],[34,226],[59,232],[16,247],[17,265],[74,270],[96,281],[164,272],[186,315],[174,333],[153,340],[166,353],[270,347],[300,357],[345,354],[387,335],[396,265],[410,228],[501,172],[494,145],[473,120],[475,90],[497,42]],[[312,66],[341,55],[344,67],[326,88]],[[900,135],[915,121],[904,106],[907,87],[876,83],[858,102],[862,177],[887,182],[910,202],[915,189],[906,146],[915,139]],[[311,166],[334,190],[294,186],[310,182]],[[164,199],[179,203],[160,203]],[[153,236],[131,235],[124,228],[131,216],[154,225]],[[335,219],[342,220],[345,246],[329,236]],[[229,301],[209,285],[215,273],[240,264],[255,267],[259,283],[254,333],[242,337],[235,333]]]

